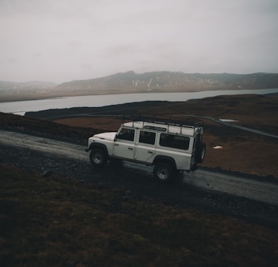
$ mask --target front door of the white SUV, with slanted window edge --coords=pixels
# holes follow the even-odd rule
[[[114,141],[113,156],[122,159],[134,159],[135,130],[122,128]]]

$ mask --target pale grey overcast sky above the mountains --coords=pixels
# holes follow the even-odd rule
[[[0,81],[278,73],[277,0],[0,0]]]

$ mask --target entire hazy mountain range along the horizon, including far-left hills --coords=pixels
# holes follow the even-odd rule
[[[101,78],[68,81],[56,85],[32,81],[15,83],[0,81],[0,95],[53,94],[103,95],[132,92],[193,92],[202,90],[278,88],[278,74],[186,74],[183,72],[133,71]]]

